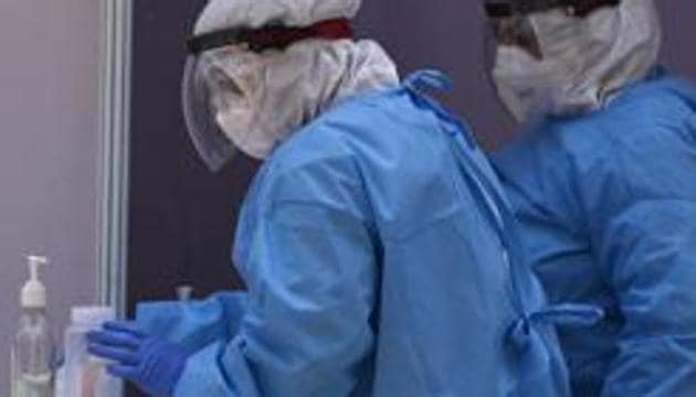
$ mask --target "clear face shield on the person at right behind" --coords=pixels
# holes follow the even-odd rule
[[[588,63],[616,32],[592,32],[595,12],[621,0],[485,0],[491,79],[518,121],[574,112],[594,99]],[[592,14],[592,15],[591,15]],[[610,26],[600,18],[602,29]]]

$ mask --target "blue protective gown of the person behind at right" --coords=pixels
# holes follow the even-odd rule
[[[561,328],[577,396],[696,396],[696,89],[663,69],[605,109],[549,119],[495,159]]]

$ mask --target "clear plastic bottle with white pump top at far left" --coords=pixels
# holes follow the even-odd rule
[[[46,290],[39,279],[44,257],[28,257],[30,279],[22,288],[22,314],[12,345],[12,397],[53,397],[54,343],[46,319]]]

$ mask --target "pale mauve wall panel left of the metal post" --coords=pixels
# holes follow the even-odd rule
[[[22,256],[51,257],[44,279],[59,326],[70,305],[95,297],[98,1],[0,1],[0,396],[9,396]]]

